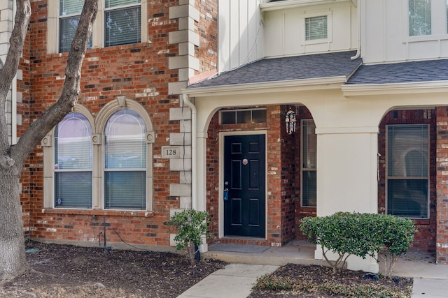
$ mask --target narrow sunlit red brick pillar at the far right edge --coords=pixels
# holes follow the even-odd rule
[[[448,107],[437,107],[436,261],[448,264]]]

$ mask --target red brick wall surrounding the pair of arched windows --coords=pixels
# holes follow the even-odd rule
[[[48,0],[49,1],[49,0]],[[214,0],[197,1],[211,6],[213,11],[196,22],[198,29],[216,32],[217,10]],[[170,145],[170,136],[180,132],[180,120],[170,120],[170,108],[180,106],[179,95],[169,94],[169,83],[179,81],[179,69],[169,68],[169,58],[179,54],[179,45],[169,43],[169,32],[179,30],[176,18],[169,18],[169,8],[179,1],[148,1],[149,43],[120,45],[87,50],[80,83],[78,103],[97,116],[98,112],[117,96],[126,96],[140,103],[148,112],[155,131],[153,144],[153,212],[111,210],[61,210],[43,208],[43,157],[41,146],[36,147],[22,172],[22,204],[30,213],[31,234],[36,239],[61,241],[98,241],[103,220],[108,241],[132,244],[169,245],[169,231],[164,223],[170,209],[179,209],[179,196],[170,194],[170,185],[179,184],[179,171],[170,170],[170,160],[162,158],[162,146]],[[23,92],[20,136],[39,115],[55,103],[62,90],[66,53],[46,54],[48,7],[47,1],[31,3],[31,24],[21,69],[23,80],[18,89]],[[209,19],[207,19],[209,17]],[[146,22],[142,22],[145,24]],[[216,64],[216,42],[202,36],[196,54],[208,52],[200,59],[202,69]],[[208,41],[206,40],[208,38]],[[196,50],[197,50],[196,48]],[[26,57],[29,57],[27,59]],[[200,70],[202,71],[202,70]],[[25,221],[25,218],[24,218]]]

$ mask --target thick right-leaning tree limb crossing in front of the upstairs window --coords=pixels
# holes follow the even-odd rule
[[[62,94],[54,105],[30,124],[28,130],[20,137],[18,144],[12,147],[11,157],[16,164],[22,164],[38,142],[76,105],[80,93],[81,67],[97,10],[98,0],[85,0],[78,29],[67,57]]]

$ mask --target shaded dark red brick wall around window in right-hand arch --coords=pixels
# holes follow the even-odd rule
[[[436,171],[435,171],[435,110],[398,110],[388,112],[379,125],[378,151],[379,184],[378,212],[386,212],[386,124],[430,124],[430,199],[429,219],[413,220],[419,232],[414,237],[412,247],[423,252],[435,252],[436,218]]]

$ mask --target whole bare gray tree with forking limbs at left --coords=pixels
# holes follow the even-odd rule
[[[4,0],[2,0],[4,1]],[[29,0],[17,0],[15,25],[5,64],[0,70],[0,281],[12,279],[27,270],[25,239],[20,205],[20,172],[36,144],[76,105],[80,92],[81,66],[99,0],[85,0],[78,29],[71,44],[65,68],[62,94],[57,103],[29,124],[17,144],[10,146],[6,131],[5,103],[23,51],[31,16]]]

